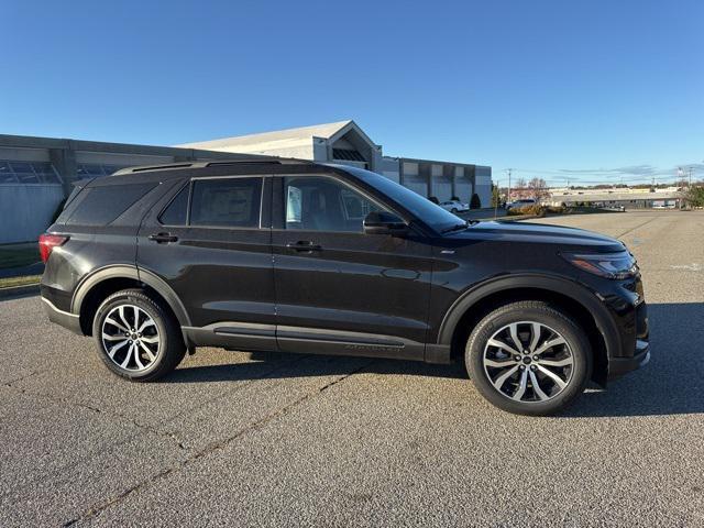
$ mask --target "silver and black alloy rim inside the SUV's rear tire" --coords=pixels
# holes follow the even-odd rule
[[[134,305],[112,308],[102,322],[102,346],[121,369],[141,372],[160,354],[161,341],[154,319]]]

